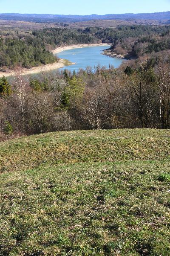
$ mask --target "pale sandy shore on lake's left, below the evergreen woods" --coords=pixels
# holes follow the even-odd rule
[[[48,72],[48,71],[51,71],[51,70],[57,70],[59,68],[74,65],[74,64],[75,63],[70,62],[68,60],[59,59],[58,62],[54,62],[52,64],[46,64],[46,65],[42,65],[42,66],[39,66],[39,67],[31,67],[30,69],[22,68],[21,69],[21,74],[23,76],[23,75],[31,75],[31,74],[41,73],[41,72]],[[16,74],[17,74],[17,71],[15,71],[15,70],[7,71],[7,72],[0,71],[0,78],[2,78],[3,76],[5,76],[5,77],[16,76]]]

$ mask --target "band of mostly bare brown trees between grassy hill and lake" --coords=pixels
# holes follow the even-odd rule
[[[170,60],[10,83],[0,80],[1,140],[17,134],[108,128],[170,128]]]

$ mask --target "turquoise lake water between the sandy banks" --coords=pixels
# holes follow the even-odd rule
[[[79,70],[79,68],[85,69],[86,67],[90,66],[94,69],[94,66],[98,64],[102,67],[105,66],[109,68],[109,64],[113,67],[117,68],[122,63],[121,59],[118,58],[111,58],[109,56],[103,55],[102,50],[109,48],[109,46],[95,46],[95,47],[83,47],[83,48],[76,48],[71,50],[65,50],[62,52],[57,53],[59,58],[67,59],[71,62],[76,64],[61,68],[59,70],[67,69],[73,72]]]

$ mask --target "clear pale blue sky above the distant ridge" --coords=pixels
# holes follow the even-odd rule
[[[0,13],[115,14],[170,11],[170,0],[0,0]]]

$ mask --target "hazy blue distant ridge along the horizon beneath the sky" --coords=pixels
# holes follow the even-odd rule
[[[20,14],[2,13],[2,20],[24,20],[34,22],[78,22],[86,20],[170,20],[170,11],[155,13],[125,13],[106,15],[51,15],[51,14]]]

